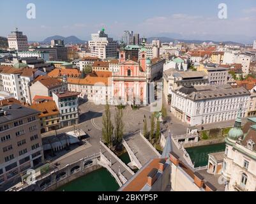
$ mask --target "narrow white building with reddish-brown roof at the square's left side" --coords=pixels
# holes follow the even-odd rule
[[[79,92],[52,93],[60,115],[61,127],[73,126],[79,123]]]

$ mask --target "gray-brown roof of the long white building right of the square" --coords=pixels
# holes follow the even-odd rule
[[[193,101],[213,99],[213,98],[224,98],[228,96],[245,96],[250,95],[244,87],[232,88],[229,84],[225,85],[201,85],[201,86],[191,86],[184,92],[184,87],[176,90],[177,94],[185,94],[183,97],[191,99]]]

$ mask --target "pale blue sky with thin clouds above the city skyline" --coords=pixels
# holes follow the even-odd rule
[[[36,5],[36,19],[26,18],[28,3]],[[227,19],[218,18],[220,3],[227,4]],[[255,0],[1,0],[0,19],[0,36],[19,27],[30,41],[55,34],[88,40],[103,26],[114,38],[124,30],[200,40],[256,38]]]

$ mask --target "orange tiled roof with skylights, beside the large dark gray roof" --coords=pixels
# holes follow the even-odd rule
[[[47,117],[50,115],[57,115],[59,114],[59,110],[57,109],[55,101],[48,101],[44,103],[36,103],[30,106],[34,110],[38,110],[41,112],[39,117]]]

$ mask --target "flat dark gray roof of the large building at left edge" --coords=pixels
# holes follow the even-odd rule
[[[0,116],[0,124],[10,122],[11,120],[17,120],[22,117],[27,117],[29,115],[34,115],[40,113],[37,110],[32,108],[27,108],[26,106],[12,104],[10,106],[3,106],[0,108],[3,112],[6,112],[6,115]]]

